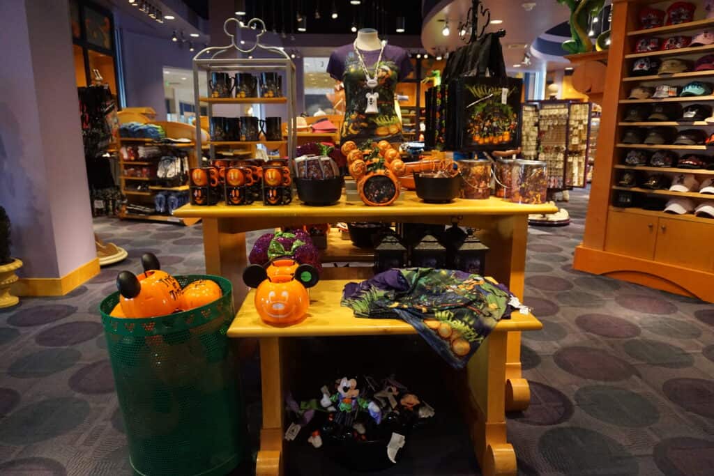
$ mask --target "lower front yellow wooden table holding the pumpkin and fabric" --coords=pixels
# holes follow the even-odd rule
[[[359,335],[409,335],[416,330],[403,320],[356,318],[350,308],[340,306],[342,289],[348,280],[321,281],[311,290],[308,316],[301,323],[284,328],[263,323],[252,305],[241,307],[228,329],[230,338],[258,338],[261,346],[263,428],[256,475],[283,474],[281,455],[285,434],[283,395],[286,385],[284,348],[288,338]],[[516,452],[506,440],[506,343],[508,335],[521,330],[538,330],[543,325],[533,315],[515,312],[502,319],[469,360],[466,372],[468,398],[463,411],[474,452],[484,475],[516,475]]]

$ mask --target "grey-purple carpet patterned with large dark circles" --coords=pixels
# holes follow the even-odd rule
[[[531,406],[508,420],[519,474],[712,475],[714,306],[574,271],[587,198],[571,194],[570,226],[530,231],[525,301],[545,327],[524,335]],[[138,270],[147,250],[171,273],[203,272],[201,226],[98,219],[95,229],[124,246],[129,259],[70,295],[26,298],[0,310],[0,475],[131,474],[97,305],[114,290],[117,271]],[[254,444],[254,354],[243,374]],[[421,390],[430,395],[428,385]],[[433,406],[436,425],[380,474],[478,474],[453,405]],[[291,449],[300,464],[288,475],[351,474],[302,444]],[[410,460],[415,455],[418,464]]]

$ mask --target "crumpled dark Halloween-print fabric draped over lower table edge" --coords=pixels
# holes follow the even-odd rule
[[[498,321],[511,315],[512,297],[480,275],[403,268],[347,283],[341,304],[359,318],[410,323],[453,368],[463,368]]]

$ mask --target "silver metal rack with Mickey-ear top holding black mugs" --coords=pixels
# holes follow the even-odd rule
[[[238,31],[250,31],[255,33],[255,43],[249,45],[238,44]],[[230,43],[226,46],[209,46],[208,48],[198,51],[198,54],[193,57],[193,94],[196,104],[206,104],[208,123],[211,123],[213,118],[213,108],[216,105],[226,104],[285,104],[288,117],[286,135],[281,141],[266,141],[258,138],[257,141],[208,141],[203,143],[200,134],[196,134],[196,153],[201,154],[208,150],[208,158],[211,161],[216,160],[216,148],[230,147],[243,148],[251,146],[254,151],[255,146],[263,144],[266,148],[278,149],[281,155],[287,156],[293,165],[297,146],[297,130],[296,130],[296,69],[295,64],[291,61],[290,56],[283,49],[277,46],[268,46],[261,43],[262,37],[266,34],[266,26],[263,20],[254,18],[247,22],[235,18],[226,19],[223,23],[223,31],[230,39]],[[266,58],[248,58],[253,54],[265,53]],[[283,74],[286,84],[283,85],[283,96],[273,97],[212,97],[210,91],[201,91],[201,86],[198,82],[199,74],[206,74],[206,79],[211,80],[212,73],[248,73],[260,74],[276,72]],[[209,83],[210,84],[210,83]],[[204,95],[205,94],[205,95]],[[238,115],[237,115],[238,116]],[[196,108],[196,129],[200,128],[201,124],[201,108]],[[199,157],[201,155],[198,155]]]

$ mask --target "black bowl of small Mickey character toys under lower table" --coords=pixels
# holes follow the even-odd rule
[[[313,447],[325,447],[343,465],[376,470],[397,462],[406,436],[419,420],[436,413],[428,403],[393,378],[343,377],[323,385],[312,400],[286,398],[293,423],[286,440],[303,429]],[[377,450],[376,447],[379,449]]]

